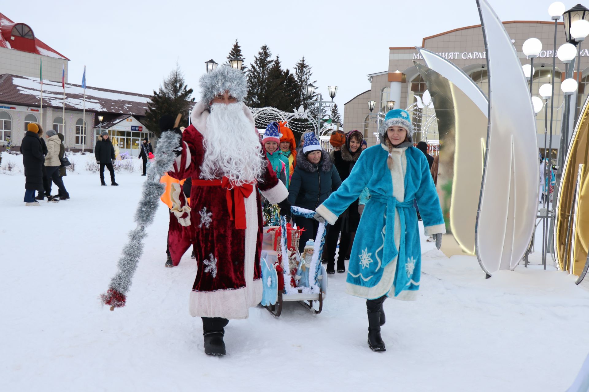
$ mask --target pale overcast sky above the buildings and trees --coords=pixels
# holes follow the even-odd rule
[[[552,0],[490,1],[502,21],[550,21]],[[198,100],[204,62],[224,62],[237,38],[247,65],[264,43],[283,68],[305,56],[319,92],[339,86],[342,112],[370,88],[366,75],[387,71],[389,46],[480,23],[475,0],[29,0],[0,12],[71,60],[70,83],[85,65],[88,86],[151,93],[178,61]]]

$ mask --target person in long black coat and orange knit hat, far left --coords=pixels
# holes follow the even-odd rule
[[[38,206],[35,200],[35,191],[45,192],[43,188],[43,163],[45,155],[41,139],[39,139],[39,126],[35,123],[27,125],[27,133],[22,138],[21,154],[22,163],[25,166],[25,203],[27,206]]]

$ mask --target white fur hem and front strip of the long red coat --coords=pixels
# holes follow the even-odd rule
[[[282,183],[281,183],[282,184]],[[244,249],[244,277],[246,287],[215,292],[190,292],[190,315],[193,317],[223,317],[224,319],[247,319],[249,308],[262,301],[262,279],[254,280],[254,262],[257,245],[256,192],[245,199],[246,238]],[[232,265],[233,262],[226,262]]]

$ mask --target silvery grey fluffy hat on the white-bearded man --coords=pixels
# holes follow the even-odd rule
[[[237,68],[220,65],[213,72],[205,73],[198,81],[200,99],[209,108],[213,99],[229,91],[229,95],[243,102],[247,95],[246,75]]]

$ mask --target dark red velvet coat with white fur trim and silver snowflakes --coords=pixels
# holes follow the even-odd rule
[[[262,181],[253,186],[249,197],[229,191],[232,201],[230,210],[226,188],[220,184],[199,185],[196,180],[200,176],[204,157],[203,135],[190,125],[184,130],[182,139],[183,151],[174,164],[174,171],[168,174],[177,179],[193,179],[191,226],[171,225],[168,245],[174,264],[180,261],[191,244],[194,245],[198,270],[191,293],[190,312],[200,317],[246,318],[247,308],[256,306],[262,294],[260,192],[276,203],[286,198],[286,188],[268,163]],[[236,203],[240,202],[236,197],[244,200],[247,229],[236,228],[239,215]],[[231,220],[232,215],[234,220]]]

